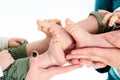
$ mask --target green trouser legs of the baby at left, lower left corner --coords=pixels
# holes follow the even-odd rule
[[[26,44],[17,48],[8,48],[9,53],[15,59],[15,62],[5,70],[4,76],[0,80],[24,80],[28,72],[29,57],[26,54]]]

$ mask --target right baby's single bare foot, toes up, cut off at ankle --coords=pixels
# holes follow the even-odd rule
[[[70,19],[66,20],[65,29],[76,41],[77,48],[91,46],[91,34],[74,24]]]

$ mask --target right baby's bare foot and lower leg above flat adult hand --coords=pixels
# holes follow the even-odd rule
[[[89,25],[89,24],[88,24]],[[76,48],[82,47],[114,47],[109,44],[104,38],[104,34],[91,34],[81,27],[80,25],[74,24],[70,19],[66,20],[66,31],[72,35],[74,40],[76,41]],[[97,30],[96,30],[97,31]],[[119,31],[110,32],[112,34],[118,35]]]

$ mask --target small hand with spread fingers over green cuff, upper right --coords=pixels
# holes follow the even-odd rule
[[[98,10],[98,12],[105,14],[103,18],[103,23],[107,23],[109,21],[109,26],[113,26],[114,23],[120,23],[120,11],[117,12],[109,12],[106,10]]]

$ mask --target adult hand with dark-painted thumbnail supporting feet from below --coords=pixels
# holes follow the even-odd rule
[[[50,78],[56,74],[69,72],[71,70],[79,68],[79,65],[41,68],[39,67],[40,59],[38,53],[36,53],[33,53],[33,56],[30,58],[29,71],[25,80],[50,80]]]

